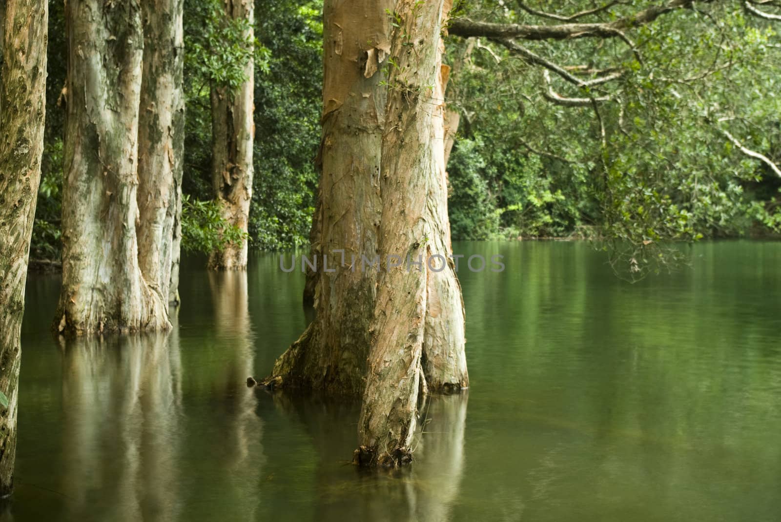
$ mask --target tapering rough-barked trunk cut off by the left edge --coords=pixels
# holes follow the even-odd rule
[[[13,485],[24,282],[41,180],[47,0],[0,0],[0,498]],[[4,8],[4,9],[3,9]]]

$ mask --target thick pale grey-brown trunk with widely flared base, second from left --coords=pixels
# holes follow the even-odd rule
[[[138,262],[137,0],[66,3],[67,114],[59,332],[169,328],[167,300]],[[145,109],[145,108],[144,108]]]

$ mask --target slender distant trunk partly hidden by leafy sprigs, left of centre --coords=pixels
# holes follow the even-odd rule
[[[224,0],[226,16],[254,23],[253,2]],[[245,36],[253,37],[251,28]],[[228,225],[247,232],[252,198],[252,123],[255,65],[244,66],[246,80],[240,87],[212,86],[212,186],[216,201]],[[225,245],[209,254],[212,270],[245,270],[247,240]]]

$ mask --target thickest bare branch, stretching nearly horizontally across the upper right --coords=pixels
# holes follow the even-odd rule
[[[690,9],[694,0],[671,0],[655,5],[631,16],[608,23],[562,23],[539,26],[520,23],[476,22],[468,18],[451,21],[448,33],[461,37],[484,36],[492,38],[521,38],[523,40],[567,40],[569,38],[620,37],[621,31],[651,23],[659,16],[677,9]]]

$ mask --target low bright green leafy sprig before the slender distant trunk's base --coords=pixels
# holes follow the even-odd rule
[[[230,225],[214,200],[182,198],[182,250],[208,254],[241,243],[247,236],[241,228]]]

